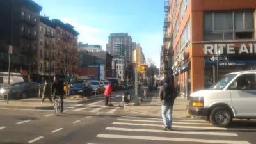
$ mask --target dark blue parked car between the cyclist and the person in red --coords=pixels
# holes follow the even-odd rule
[[[92,87],[88,83],[75,83],[71,86],[70,95],[92,95]]]

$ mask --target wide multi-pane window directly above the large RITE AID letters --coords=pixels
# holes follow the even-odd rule
[[[204,40],[253,39],[253,35],[253,10],[204,13]]]

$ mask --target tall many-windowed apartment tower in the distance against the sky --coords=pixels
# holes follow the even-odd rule
[[[132,38],[128,33],[111,33],[106,50],[109,54],[124,56],[125,67],[132,63]]]

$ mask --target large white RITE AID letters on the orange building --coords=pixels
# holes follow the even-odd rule
[[[236,54],[234,51],[235,44],[204,44],[204,54],[215,54],[220,49],[220,54],[223,54],[224,47],[227,49],[227,54]],[[241,44],[238,54],[256,54],[256,44]]]

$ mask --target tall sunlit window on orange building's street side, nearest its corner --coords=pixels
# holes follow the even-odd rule
[[[182,35],[180,36],[180,51],[184,51],[188,45],[190,44],[190,20],[188,20],[183,32],[182,32]]]

